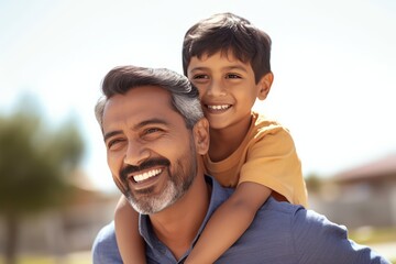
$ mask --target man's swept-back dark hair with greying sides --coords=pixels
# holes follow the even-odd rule
[[[198,89],[189,82],[187,77],[167,68],[120,66],[111,69],[102,81],[103,97],[95,107],[100,128],[102,128],[106,102],[116,95],[124,95],[130,89],[142,86],[156,86],[169,91],[170,106],[183,116],[188,129],[191,129],[204,117]]]

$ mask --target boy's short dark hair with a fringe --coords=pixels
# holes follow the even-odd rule
[[[211,56],[217,52],[228,55],[230,52],[239,61],[250,63],[255,82],[271,73],[271,38],[246,19],[233,13],[219,13],[199,21],[185,34],[183,43],[183,70],[191,57]]]

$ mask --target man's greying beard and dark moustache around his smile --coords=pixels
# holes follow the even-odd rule
[[[195,153],[195,145],[191,136],[189,153],[180,155],[180,158],[174,163],[172,170],[169,166],[170,162],[166,158],[150,160],[141,164],[139,167],[131,165],[124,167],[120,173],[120,176],[123,185],[128,186],[124,195],[133,209],[142,215],[152,215],[162,211],[177,201],[189,189],[197,175],[197,160]],[[187,156],[189,158],[186,158]],[[186,164],[188,161],[189,163]],[[184,164],[186,166],[183,166]],[[148,187],[146,189],[139,190],[140,198],[138,198],[138,196],[135,196],[129,188],[125,176],[128,173],[139,172],[143,168],[150,168],[156,165],[166,165],[169,178],[166,182],[164,190],[160,195],[155,195],[153,193],[154,187]]]

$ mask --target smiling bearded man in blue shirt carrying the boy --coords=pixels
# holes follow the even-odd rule
[[[204,175],[208,121],[198,91],[168,69],[112,69],[96,107],[113,179],[139,211],[147,263],[183,263],[213,211],[232,194]],[[227,224],[227,223],[224,223]],[[122,263],[114,227],[105,227],[94,263]],[[346,230],[270,198],[217,263],[388,263],[348,240]]]

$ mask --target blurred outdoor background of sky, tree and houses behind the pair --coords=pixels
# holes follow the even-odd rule
[[[120,196],[101,79],[127,64],[183,73],[185,32],[227,11],[273,40],[255,109],[289,128],[310,208],[396,261],[395,1],[0,0],[0,263],[91,262]]]

